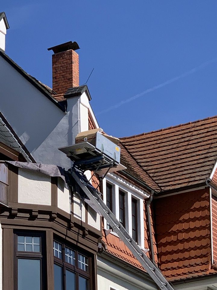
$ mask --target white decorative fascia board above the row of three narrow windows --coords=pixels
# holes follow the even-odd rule
[[[149,194],[145,191],[143,191],[142,189],[140,189],[139,187],[131,184],[130,182],[124,180],[123,178],[121,178],[120,176],[117,176],[114,173],[108,173],[106,175],[106,179],[110,182],[113,182],[117,185],[119,185],[119,187],[123,188],[125,191],[129,191],[134,193],[137,193],[137,195],[141,198],[149,198]]]

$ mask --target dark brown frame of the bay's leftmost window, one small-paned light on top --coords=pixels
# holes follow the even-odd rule
[[[17,250],[17,237],[40,237],[40,252],[27,252]],[[47,271],[46,271],[46,236],[43,232],[14,230],[14,290],[18,288],[18,259],[40,260],[41,290],[46,290]]]

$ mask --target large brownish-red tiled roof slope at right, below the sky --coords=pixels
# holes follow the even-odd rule
[[[217,157],[216,138],[217,116],[120,139],[165,191],[206,181]]]

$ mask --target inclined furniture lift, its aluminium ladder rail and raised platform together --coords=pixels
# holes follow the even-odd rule
[[[59,150],[64,152],[74,162],[73,167],[68,170],[71,176],[71,184],[73,184],[74,180],[76,181],[86,197],[94,205],[96,211],[102,214],[112,227],[112,230],[118,234],[128,249],[131,250],[156,285],[158,285],[159,289],[174,290],[172,285],[162,275],[160,269],[147,257],[146,252],[148,249],[146,249],[145,252],[141,250],[139,245],[117,220],[112,211],[105,205],[101,198],[102,194],[90,183],[91,179],[88,180],[84,174],[86,170],[94,171],[94,175],[97,171],[105,169],[106,175],[110,169],[115,169],[115,171],[117,171],[116,168],[120,166],[120,147],[104,138],[106,137],[100,132],[97,132],[96,137],[92,138],[90,142],[88,142],[88,138],[85,137],[84,140],[81,140],[81,142],[75,145],[59,148]]]

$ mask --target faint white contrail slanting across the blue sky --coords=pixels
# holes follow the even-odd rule
[[[188,76],[188,75],[190,75],[190,74],[192,74],[192,73],[194,73],[194,72],[197,72],[199,69],[202,69],[203,67],[208,66],[210,63],[214,63],[215,61],[217,61],[217,57],[214,58],[214,59],[212,59],[212,60],[208,60],[208,61],[206,61],[205,63],[200,64],[200,66],[196,66],[195,68],[193,68],[193,69],[191,69],[191,70],[189,70],[189,71],[187,71],[187,72],[184,72],[184,73],[182,73],[181,75],[176,76],[175,78],[169,79],[169,80],[166,81],[166,82],[162,82],[162,83],[159,84],[159,85],[155,85],[154,87],[152,87],[152,88],[150,88],[150,89],[147,89],[147,90],[145,90],[144,92],[141,92],[140,94],[134,95],[134,96],[131,97],[131,98],[128,98],[128,99],[126,99],[126,100],[123,100],[123,101],[117,103],[116,105],[113,105],[113,106],[111,106],[111,107],[109,107],[109,108],[107,108],[107,109],[105,109],[105,110],[102,110],[101,112],[99,112],[99,113],[96,114],[96,115],[101,115],[101,114],[106,113],[106,112],[108,112],[108,111],[112,111],[112,110],[114,110],[114,109],[117,109],[117,108],[121,107],[122,105],[124,105],[124,104],[126,104],[126,103],[129,103],[129,102],[131,102],[131,101],[133,101],[133,100],[135,100],[135,99],[137,99],[137,98],[142,97],[143,95],[148,94],[149,92],[153,92],[153,91],[155,91],[155,90],[157,90],[157,89],[160,89],[160,88],[164,87],[165,85],[169,85],[169,84],[171,84],[172,82],[177,81],[178,79],[184,78],[185,76]]]

